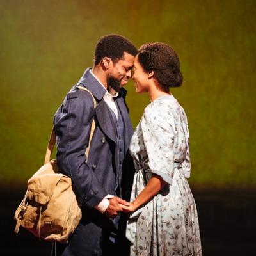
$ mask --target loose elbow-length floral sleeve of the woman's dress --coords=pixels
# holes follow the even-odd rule
[[[148,156],[148,167],[172,184],[174,173],[173,141],[174,118],[168,109],[145,109],[141,121],[143,143]]]

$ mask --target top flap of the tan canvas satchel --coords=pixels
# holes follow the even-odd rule
[[[42,205],[47,204],[61,177],[64,176],[61,173],[48,173],[31,177],[28,180],[28,200]]]

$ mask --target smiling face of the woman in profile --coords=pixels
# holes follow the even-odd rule
[[[148,73],[145,72],[140,65],[138,55],[134,60],[132,79],[137,93],[148,92]]]

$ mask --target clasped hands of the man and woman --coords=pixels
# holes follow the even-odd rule
[[[137,207],[133,202],[127,202],[124,199],[121,199],[117,196],[109,198],[109,206],[104,212],[109,218],[115,218],[118,215],[118,212],[134,212]]]

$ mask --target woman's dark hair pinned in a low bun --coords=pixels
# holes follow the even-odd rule
[[[169,87],[182,84],[179,57],[169,45],[161,42],[143,44],[138,51],[138,61],[146,72],[154,71],[165,92],[169,92]]]

